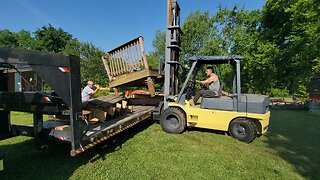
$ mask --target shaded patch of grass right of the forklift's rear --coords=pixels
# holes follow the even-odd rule
[[[305,178],[320,177],[320,118],[308,111],[273,110],[268,145]]]

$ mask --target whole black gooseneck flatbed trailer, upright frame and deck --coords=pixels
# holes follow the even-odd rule
[[[31,69],[54,92],[9,91],[8,72],[20,73],[22,68]],[[70,154],[75,156],[150,118],[155,109],[152,105],[133,104],[131,112],[119,113],[104,122],[91,124],[83,114],[80,94],[79,57],[0,48],[0,140],[18,135],[31,136],[40,146],[44,141],[57,140],[70,143]],[[32,113],[33,124],[11,124],[11,111]],[[63,118],[43,121],[44,114]],[[63,125],[69,128],[56,128]]]

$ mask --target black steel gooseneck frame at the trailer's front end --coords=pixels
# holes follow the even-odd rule
[[[82,109],[80,95],[80,59],[77,56],[65,56],[55,53],[44,53],[38,51],[28,51],[21,49],[0,48],[0,123],[7,127],[4,131],[1,129],[2,136],[12,136],[13,131],[10,126],[10,111],[24,111],[34,114],[33,136],[36,142],[38,135],[42,130],[43,114],[68,114],[70,116],[71,127],[71,149],[76,150],[81,147],[82,128]],[[19,67],[29,66],[46,83],[54,89],[57,96],[39,92],[8,92],[6,87],[6,68],[19,69]],[[7,96],[19,95],[21,98],[13,99],[8,102]],[[31,96],[31,99],[27,98]],[[40,98],[35,98],[39,96]],[[51,99],[61,99],[62,101],[44,102],[44,97],[49,101]],[[6,105],[7,106],[3,106]],[[35,108],[19,106],[19,104],[33,105]],[[68,110],[59,108],[47,108],[49,106],[67,106]],[[31,106],[30,106],[31,107]],[[44,110],[46,109],[47,110]]]

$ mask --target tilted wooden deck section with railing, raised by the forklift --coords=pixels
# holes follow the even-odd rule
[[[102,57],[109,77],[110,88],[139,87],[147,84],[154,94],[154,80],[159,77],[158,70],[149,68],[143,38],[137,37]]]

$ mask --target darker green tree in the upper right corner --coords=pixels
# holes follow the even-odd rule
[[[319,71],[320,2],[268,0],[263,9],[262,35],[280,50],[275,59],[278,86],[296,91]]]

